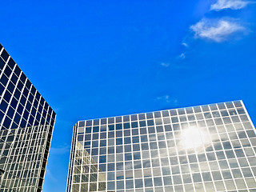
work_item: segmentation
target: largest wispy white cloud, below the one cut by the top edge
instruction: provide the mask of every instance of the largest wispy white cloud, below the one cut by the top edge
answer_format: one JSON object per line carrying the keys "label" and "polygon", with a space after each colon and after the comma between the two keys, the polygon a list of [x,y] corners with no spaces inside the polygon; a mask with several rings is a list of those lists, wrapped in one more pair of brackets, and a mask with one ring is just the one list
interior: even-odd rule
{"label": "largest wispy white cloud, below the one cut by the top edge", "polygon": [[223,18],[218,20],[203,18],[194,26],[190,26],[190,29],[194,31],[196,38],[207,38],[214,42],[225,41],[231,34],[246,30],[238,22]]}

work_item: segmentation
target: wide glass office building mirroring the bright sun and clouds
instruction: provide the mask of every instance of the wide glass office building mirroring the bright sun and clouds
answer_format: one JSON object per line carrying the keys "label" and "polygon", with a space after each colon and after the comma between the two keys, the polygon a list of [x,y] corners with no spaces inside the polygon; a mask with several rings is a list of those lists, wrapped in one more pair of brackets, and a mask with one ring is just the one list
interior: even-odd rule
{"label": "wide glass office building mirroring the bright sun and clouds", "polygon": [[256,191],[242,101],[79,121],[67,192]]}

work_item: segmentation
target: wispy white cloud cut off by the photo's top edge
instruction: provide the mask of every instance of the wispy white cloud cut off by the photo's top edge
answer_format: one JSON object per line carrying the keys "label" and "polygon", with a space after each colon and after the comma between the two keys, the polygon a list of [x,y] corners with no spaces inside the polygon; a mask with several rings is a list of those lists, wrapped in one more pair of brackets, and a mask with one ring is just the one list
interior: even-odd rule
{"label": "wispy white cloud cut off by the photo's top edge", "polygon": [[242,0],[218,0],[216,3],[210,6],[210,10],[240,10],[243,7],[247,6],[251,2],[242,1]]}

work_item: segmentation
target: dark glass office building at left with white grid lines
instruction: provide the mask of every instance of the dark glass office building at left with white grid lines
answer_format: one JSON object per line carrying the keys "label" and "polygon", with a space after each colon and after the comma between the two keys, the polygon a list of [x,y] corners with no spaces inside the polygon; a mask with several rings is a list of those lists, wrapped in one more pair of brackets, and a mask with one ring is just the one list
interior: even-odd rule
{"label": "dark glass office building at left with white grid lines", "polygon": [[0,191],[40,192],[56,114],[0,44]]}

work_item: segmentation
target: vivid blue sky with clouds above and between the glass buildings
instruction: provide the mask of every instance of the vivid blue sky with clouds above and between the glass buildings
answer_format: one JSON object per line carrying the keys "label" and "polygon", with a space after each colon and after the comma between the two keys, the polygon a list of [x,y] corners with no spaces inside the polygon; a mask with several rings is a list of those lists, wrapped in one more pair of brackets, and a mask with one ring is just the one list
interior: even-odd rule
{"label": "vivid blue sky with clouds above and between the glass buildings", "polygon": [[242,99],[256,123],[256,3],[3,1],[0,42],[57,113],[43,192],[74,123]]}

